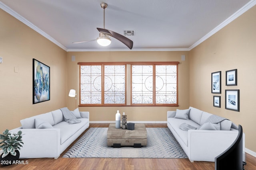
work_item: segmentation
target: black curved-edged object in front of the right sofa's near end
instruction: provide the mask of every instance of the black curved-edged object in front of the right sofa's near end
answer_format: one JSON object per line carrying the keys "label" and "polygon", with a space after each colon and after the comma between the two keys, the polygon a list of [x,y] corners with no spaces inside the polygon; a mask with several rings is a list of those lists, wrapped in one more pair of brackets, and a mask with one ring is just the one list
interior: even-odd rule
{"label": "black curved-edged object in front of the right sofa's near end", "polygon": [[215,157],[215,170],[243,170],[243,129],[239,125],[238,136],[228,149]]}

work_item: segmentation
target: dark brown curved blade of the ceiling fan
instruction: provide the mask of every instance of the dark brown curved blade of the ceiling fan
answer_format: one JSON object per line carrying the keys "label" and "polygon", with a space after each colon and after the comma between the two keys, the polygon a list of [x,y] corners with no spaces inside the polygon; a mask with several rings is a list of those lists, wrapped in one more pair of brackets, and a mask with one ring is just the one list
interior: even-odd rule
{"label": "dark brown curved blade of the ceiling fan", "polygon": [[132,49],[133,41],[128,39],[127,37],[124,37],[124,35],[121,35],[119,33],[116,33],[114,31],[104,29],[104,28],[97,28],[98,31],[106,34],[110,34],[111,37],[114,37],[115,39],[118,39],[122,43],[124,43],[129,49]]}

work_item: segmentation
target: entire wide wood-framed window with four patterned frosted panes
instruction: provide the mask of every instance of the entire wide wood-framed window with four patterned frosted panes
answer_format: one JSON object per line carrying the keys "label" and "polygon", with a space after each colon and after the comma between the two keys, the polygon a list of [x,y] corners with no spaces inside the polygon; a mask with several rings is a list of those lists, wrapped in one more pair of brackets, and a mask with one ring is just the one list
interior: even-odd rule
{"label": "entire wide wood-framed window with four patterned frosted panes", "polygon": [[80,106],[178,106],[179,62],[78,64]]}

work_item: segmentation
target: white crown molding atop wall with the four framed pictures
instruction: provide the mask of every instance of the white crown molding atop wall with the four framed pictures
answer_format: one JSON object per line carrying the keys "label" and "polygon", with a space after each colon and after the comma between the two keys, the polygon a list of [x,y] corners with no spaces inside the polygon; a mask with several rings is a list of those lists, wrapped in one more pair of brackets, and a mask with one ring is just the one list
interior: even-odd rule
{"label": "white crown molding atop wall with the four framed pictures", "polygon": [[193,48],[195,48],[196,46],[198,46],[200,43],[204,42],[206,39],[208,39],[210,36],[214,35],[216,32],[220,31],[220,29],[222,29],[223,27],[225,27],[226,25],[228,25],[230,22],[234,21],[236,18],[238,18],[239,16],[241,16],[242,14],[244,14],[244,12],[248,11],[250,8],[252,8],[254,5],[256,4],[256,0],[251,0],[250,2],[248,2],[247,4],[245,4],[242,8],[240,8],[237,12],[235,12],[232,16],[230,16],[229,18],[227,18],[225,21],[223,21],[222,23],[220,23],[220,25],[218,25],[217,27],[215,27],[214,29],[212,29],[209,33],[207,33],[206,35],[204,35],[204,37],[202,37],[201,39],[199,39],[196,43],[194,43],[193,45],[191,45],[188,49],[189,51],[192,50]]}

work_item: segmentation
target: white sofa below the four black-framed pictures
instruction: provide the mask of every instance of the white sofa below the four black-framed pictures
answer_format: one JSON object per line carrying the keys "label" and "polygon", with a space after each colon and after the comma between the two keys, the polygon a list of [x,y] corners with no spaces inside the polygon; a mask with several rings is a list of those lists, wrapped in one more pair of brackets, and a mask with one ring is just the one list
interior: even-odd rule
{"label": "white sofa below the four black-framed pictures", "polygon": [[[191,162],[214,162],[215,157],[228,149],[238,135],[238,130],[234,129],[236,125],[227,119],[218,124],[207,123],[206,120],[210,115],[212,114],[194,107],[189,107],[186,110],[167,111],[168,128]],[[183,123],[197,129],[182,130]],[[210,130],[211,128],[213,129]],[[220,130],[214,130],[214,128],[220,128]],[[245,160],[244,143],[245,134],[243,133],[243,161]]]}

